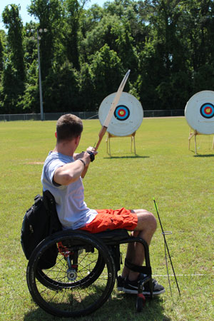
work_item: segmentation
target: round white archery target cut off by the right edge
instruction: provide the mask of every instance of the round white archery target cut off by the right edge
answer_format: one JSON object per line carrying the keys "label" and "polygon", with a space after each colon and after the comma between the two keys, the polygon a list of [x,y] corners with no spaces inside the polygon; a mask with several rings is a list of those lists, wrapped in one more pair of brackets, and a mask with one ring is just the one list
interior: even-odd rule
{"label": "round white archery target cut off by the right edge", "polygon": [[214,91],[195,93],[185,106],[185,118],[198,133],[214,133]]}

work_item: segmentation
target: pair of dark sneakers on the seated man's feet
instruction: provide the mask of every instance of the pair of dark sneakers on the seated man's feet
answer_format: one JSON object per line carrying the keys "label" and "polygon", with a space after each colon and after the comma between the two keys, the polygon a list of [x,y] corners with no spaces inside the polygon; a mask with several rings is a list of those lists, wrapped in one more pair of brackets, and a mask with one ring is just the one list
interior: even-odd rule
{"label": "pair of dark sneakers on the seated man's feet", "polygon": [[[142,275],[138,277],[138,280],[134,280],[134,281],[125,280],[124,286],[123,286],[123,292],[138,294],[138,282],[141,279],[142,279]],[[155,279],[153,279],[153,295],[161,295],[164,292],[165,292],[165,288],[162,285],[159,285],[158,282]],[[146,284],[143,285],[143,295],[150,295],[149,282],[146,282]]]}

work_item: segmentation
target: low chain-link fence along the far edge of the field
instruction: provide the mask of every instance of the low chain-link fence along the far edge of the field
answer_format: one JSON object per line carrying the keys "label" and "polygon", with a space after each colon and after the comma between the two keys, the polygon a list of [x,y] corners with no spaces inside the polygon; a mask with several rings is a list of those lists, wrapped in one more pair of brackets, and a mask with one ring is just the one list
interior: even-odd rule
{"label": "low chain-link fence along the far edge of the field", "polygon": [[[81,119],[98,119],[97,111],[68,111],[63,113],[44,113],[45,121],[57,121],[57,119],[65,113],[73,113]],[[143,117],[176,117],[184,116],[183,109],[172,109],[167,111],[143,111]],[[17,114],[1,114],[0,121],[40,121],[40,113],[17,113]]]}

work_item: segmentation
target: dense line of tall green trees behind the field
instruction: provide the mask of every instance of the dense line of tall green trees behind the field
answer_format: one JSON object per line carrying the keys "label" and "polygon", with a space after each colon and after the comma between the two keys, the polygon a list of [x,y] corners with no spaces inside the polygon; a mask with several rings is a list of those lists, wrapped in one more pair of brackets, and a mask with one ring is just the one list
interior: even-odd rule
{"label": "dense line of tall green trees behind the field", "polygon": [[0,113],[39,113],[37,40],[44,112],[97,111],[128,69],[125,90],[144,110],[183,109],[194,93],[213,90],[213,1],[114,0],[89,9],[86,1],[31,0],[38,23],[25,26],[20,6],[5,7]]}

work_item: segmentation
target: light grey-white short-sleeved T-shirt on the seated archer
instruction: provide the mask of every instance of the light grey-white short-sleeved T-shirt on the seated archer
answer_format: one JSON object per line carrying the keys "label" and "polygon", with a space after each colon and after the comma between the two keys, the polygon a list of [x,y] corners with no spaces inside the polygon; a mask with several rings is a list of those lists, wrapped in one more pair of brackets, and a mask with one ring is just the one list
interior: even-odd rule
{"label": "light grey-white short-sleeved T-shirt on the seated archer", "polygon": [[72,156],[50,152],[44,163],[41,174],[41,183],[44,190],[49,190],[56,200],[56,211],[63,229],[75,230],[90,223],[97,215],[84,202],[84,188],[82,178],[69,185],[54,183],[54,173],[58,167],[73,162]]}

